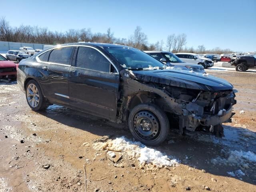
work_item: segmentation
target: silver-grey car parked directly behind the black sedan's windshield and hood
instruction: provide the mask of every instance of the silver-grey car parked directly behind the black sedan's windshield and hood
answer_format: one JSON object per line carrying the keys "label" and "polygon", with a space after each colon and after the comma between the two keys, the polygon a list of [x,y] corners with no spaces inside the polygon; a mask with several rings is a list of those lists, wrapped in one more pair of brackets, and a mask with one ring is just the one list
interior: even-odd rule
{"label": "silver-grey car parked directly behind the black sedan's windshield and hood", "polygon": [[180,60],[180,58],[178,58],[172,52],[168,52],[168,51],[144,51],[144,52],[156,58],[157,60],[163,62],[167,66],[172,66],[180,70],[188,70],[188,71],[194,71],[199,73],[205,73],[203,66],[198,64],[186,63]]}

